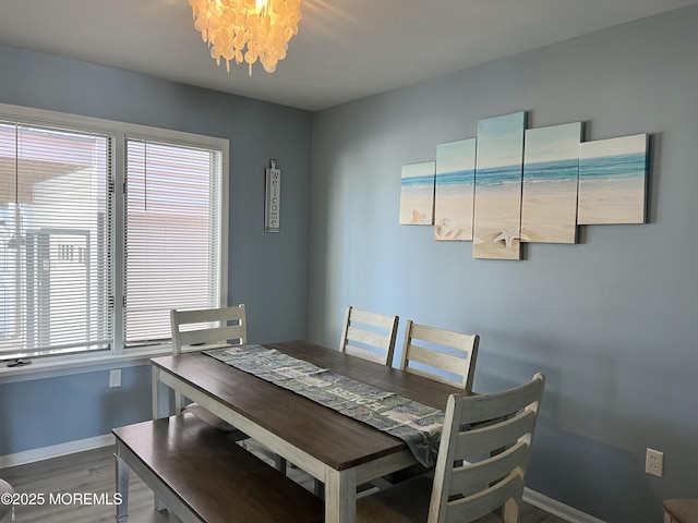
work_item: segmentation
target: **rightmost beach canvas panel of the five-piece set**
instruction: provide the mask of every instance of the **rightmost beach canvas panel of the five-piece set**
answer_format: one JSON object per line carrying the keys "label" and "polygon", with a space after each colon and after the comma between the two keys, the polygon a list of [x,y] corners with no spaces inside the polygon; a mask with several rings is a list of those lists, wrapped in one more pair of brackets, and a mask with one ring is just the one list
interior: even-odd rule
{"label": "rightmost beach canvas panel of the five-piece set", "polygon": [[577,223],[645,223],[648,136],[583,142]]}

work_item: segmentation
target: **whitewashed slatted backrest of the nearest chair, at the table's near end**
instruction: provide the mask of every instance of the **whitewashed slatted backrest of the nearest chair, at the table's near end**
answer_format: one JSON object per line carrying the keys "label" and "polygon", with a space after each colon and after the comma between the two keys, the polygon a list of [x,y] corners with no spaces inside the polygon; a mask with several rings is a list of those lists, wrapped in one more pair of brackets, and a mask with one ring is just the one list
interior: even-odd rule
{"label": "whitewashed slatted backrest of the nearest chair, at the table's near end", "polygon": [[449,398],[430,522],[468,523],[500,508],[504,523],[519,521],[544,385],[539,373],[503,392]]}

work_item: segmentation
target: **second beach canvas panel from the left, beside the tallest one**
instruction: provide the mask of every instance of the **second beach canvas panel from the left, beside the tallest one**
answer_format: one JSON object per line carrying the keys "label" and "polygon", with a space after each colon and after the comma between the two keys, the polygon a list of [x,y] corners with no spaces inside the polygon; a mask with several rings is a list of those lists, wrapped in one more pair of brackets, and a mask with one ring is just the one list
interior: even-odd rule
{"label": "second beach canvas panel from the left, beside the tallest one", "polygon": [[472,240],[476,138],[436,146],[434,240]]}

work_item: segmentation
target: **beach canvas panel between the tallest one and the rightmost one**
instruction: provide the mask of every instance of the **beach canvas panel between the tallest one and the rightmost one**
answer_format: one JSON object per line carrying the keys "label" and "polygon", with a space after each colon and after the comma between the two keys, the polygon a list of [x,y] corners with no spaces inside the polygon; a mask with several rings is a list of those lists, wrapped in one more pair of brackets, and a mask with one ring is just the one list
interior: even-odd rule
{"label": "beach canvas panel between the tallest one and the rightmost one", "polygon": [[524,149],[521,239],[577,242],[581,122],[529,129]]}

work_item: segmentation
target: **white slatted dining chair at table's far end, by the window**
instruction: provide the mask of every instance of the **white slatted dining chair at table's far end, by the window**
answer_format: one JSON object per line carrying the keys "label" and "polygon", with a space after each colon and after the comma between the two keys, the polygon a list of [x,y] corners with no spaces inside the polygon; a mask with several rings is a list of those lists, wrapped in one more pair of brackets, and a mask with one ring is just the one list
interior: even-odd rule
{"label": "white slatted dining chair at table's far end, by the window", "polygon": [[[244,345],[248,342],[244,304],[232,307],[202,308],[195,311],[170,311],[172,328],[172,354],[215,349],[228,345]],[[184,405],[185,398],[174,394],[174,411],[191,412],[204,422],[227,433],[233,440],[248,439],[248,436],[229,423],[197,403]]]}

